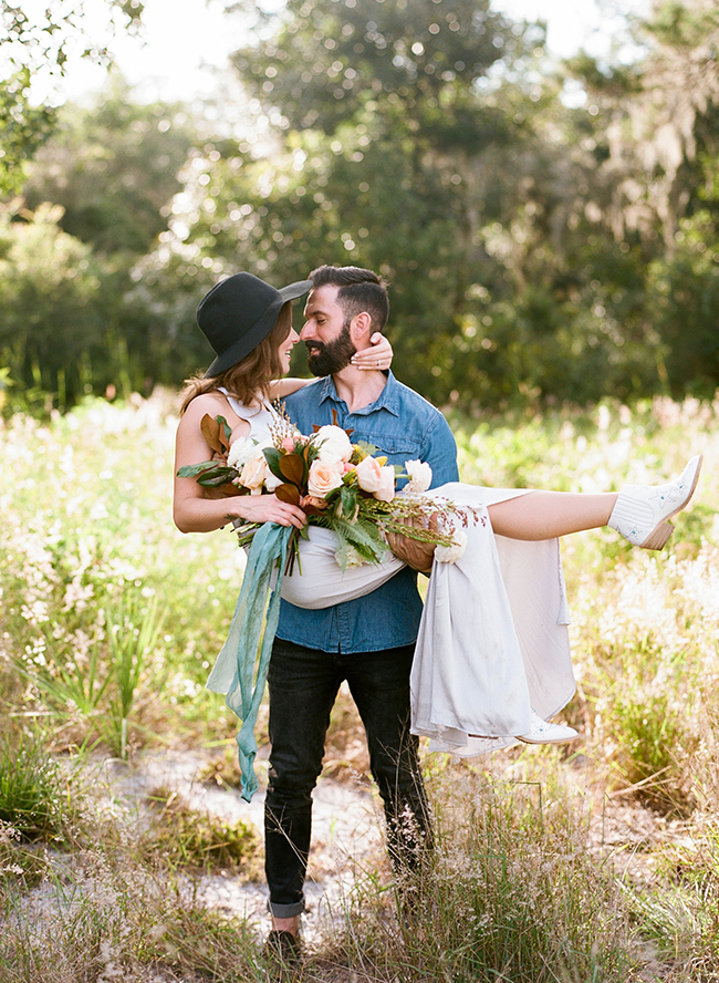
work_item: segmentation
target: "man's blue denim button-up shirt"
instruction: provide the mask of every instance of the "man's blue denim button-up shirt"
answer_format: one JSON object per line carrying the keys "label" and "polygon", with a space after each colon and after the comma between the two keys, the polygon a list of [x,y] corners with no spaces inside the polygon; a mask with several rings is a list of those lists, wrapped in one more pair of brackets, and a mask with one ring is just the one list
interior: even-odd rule
{"label": "man's blue denim button-up shirt", "polygon": [[[303,434],[311,434],[313,424],[334,423],[334,410],[337,425],[353,431],[352,441],[373,444],[387,456],[387,464],[426,461],[431,466],[433,487],[458,480],[457,445],[447,421],[392,373],[379,399],[354,413],[337,396],[331,376],[288,396],[285,406]],[[398,482],[398,487],[402,484]],[[371,594],[332,608],[310,611],[283,600],[277,634],[323,652],[378,652],[411,644],[420,617],[417,575],[405,567]]]}

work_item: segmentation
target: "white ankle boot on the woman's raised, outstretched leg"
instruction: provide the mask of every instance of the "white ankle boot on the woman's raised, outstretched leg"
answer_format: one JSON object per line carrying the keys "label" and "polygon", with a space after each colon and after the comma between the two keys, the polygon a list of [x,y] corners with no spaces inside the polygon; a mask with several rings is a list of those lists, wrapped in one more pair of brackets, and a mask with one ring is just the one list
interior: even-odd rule
{"label": "white ankle boot on the woman's raised, outstretched leg", "polygon": [[607,525],[632,546],[664,549],[674,532],[674,526],[667,520],[687,505],[697,487],[700,470],[701,455],[697,455],[678,478],[666,485],[625,485]]}

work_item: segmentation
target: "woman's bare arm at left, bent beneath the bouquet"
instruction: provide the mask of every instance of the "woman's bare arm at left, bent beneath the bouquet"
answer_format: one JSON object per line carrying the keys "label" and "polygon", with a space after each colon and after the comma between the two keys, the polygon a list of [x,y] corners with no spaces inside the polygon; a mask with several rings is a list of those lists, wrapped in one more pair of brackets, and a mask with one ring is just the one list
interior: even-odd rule
{"label": "woman's bare arm at left, bent beneath the bouquet", "polygon": [[306,522],[302,509],[280,501],[274,495],[235,495],[211,497],[195,478],[178,478],[185,465],[212,459],[212,449],[200,431],[200,421],[216,408],[210,394],[196,396],[177,427],[175,443],[175,485],[173,518],[180,532],[211,532],[235,518],[251,522],[278,522],[301,529]]}

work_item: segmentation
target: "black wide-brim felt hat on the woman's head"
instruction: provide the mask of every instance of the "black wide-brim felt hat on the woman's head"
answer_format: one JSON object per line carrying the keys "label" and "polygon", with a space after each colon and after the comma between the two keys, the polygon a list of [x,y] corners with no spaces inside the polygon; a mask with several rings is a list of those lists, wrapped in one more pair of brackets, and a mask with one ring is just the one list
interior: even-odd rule
{"label": "black wide-brim felt hat on the woman's head", "polygon": [[212,287],[197,308],[197,323],[217,353],[205,377],[220,375],[249,355],[272,331],[282,306],[310,290],[312,280],[275,290],[252,273],[236,273]]}

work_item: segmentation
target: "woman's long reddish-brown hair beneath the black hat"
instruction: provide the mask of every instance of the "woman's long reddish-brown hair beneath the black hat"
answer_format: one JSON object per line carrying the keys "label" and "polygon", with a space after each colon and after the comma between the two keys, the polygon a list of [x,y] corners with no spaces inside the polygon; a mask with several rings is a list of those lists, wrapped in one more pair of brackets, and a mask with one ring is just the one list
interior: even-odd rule
{"label": "woman's long reddish-brown hair beneath the black hat", "polygon": [[291,330],[292,303],[288,302],[280,309],[274,328],[257,348],[252,349],[249,355],[246,355],[241,361],[236,362],[235,365],[226,369],[219,375],[208,379],[205,375],[198,374],[185,380],[185,386],[180,392],[183,397],[180,416],[195,396],[199,396],[200,393],[215,392],[220,386],[246,406],[267,400],[269,397],[270,382],[282,375],[282,363],[280,362],[278,350]]}

